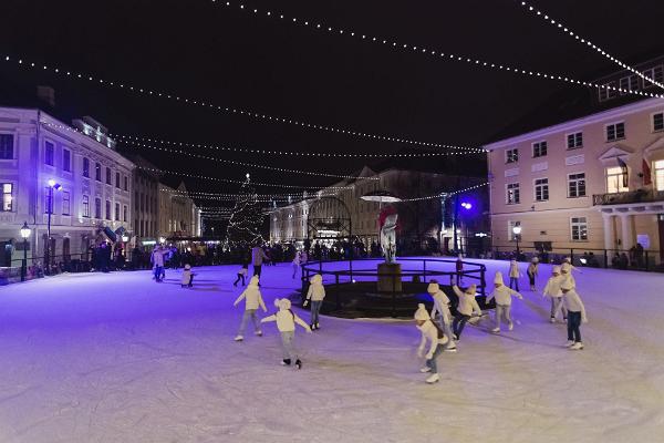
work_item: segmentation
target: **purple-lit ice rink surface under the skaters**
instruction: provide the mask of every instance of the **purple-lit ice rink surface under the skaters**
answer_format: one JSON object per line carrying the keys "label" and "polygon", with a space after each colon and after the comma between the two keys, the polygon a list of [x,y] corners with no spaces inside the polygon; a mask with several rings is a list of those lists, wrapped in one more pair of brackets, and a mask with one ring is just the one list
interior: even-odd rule
{"label": "purple-lit ice rink surface under the skaters", "polygon": [[[660,274],[577,275],[578,352],[522,279],[515,330],[467,327],[427,385],[412,322],[323,318],[297,332],[301,371],[279,365],[274,323],[234,342],[237,268],[198,268],[194,289],[172,270],[160,285],[136,271],[0,288],[0,442],[664,441]],[[263,268],[269,309],[297,288],[290,272]]]}

